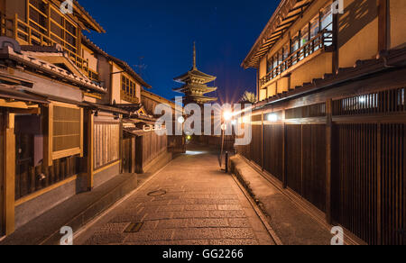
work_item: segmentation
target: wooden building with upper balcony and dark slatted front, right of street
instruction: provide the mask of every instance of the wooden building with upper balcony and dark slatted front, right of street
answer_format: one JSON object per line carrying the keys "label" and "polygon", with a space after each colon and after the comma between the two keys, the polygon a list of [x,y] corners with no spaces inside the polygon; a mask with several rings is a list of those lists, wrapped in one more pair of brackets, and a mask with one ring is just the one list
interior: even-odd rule
{"label": "wooden building with upper balcony and dark slatted front, right of street", "polygon": [[238,147],[318,219],[405,244],[406,2],[282,0],[243,62],[253,141]]}

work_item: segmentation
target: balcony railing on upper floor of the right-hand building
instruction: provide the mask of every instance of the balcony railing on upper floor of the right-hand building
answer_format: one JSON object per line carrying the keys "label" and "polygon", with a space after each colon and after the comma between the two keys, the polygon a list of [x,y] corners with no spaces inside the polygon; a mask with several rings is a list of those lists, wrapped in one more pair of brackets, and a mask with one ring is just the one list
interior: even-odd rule
{"label": "balcony railing on upper floor of the right-hand building", "polygon": [[301,60],[307,58],[309,55],[313,54],[317,50],[322,50],[325,47],[331,46],[333,44],[333,32],[322,31],[319,32],[317,36],[310,39],[306,44],[301,46],[299,50],[291,53],[291,55],[281,61],[281,63],[272,68],[272,70],[263,78],[260,79],[260,86],[264,86],[270,82],[273,78],[281,75],[282,72],[298,64]]}

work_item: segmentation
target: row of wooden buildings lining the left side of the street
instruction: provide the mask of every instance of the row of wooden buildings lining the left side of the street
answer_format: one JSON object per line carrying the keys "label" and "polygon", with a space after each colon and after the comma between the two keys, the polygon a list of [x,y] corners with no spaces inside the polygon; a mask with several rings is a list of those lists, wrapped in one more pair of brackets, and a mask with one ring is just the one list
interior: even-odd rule
{"label": "row of wooden buildings lining the left side of the street", "polygon": [[126,146],[124,125],[151,135],[151,86],[82,35],[104,30],[77,1],[73,14],[62,2],[0,1],[0,236],[167,149],[166,136]]}

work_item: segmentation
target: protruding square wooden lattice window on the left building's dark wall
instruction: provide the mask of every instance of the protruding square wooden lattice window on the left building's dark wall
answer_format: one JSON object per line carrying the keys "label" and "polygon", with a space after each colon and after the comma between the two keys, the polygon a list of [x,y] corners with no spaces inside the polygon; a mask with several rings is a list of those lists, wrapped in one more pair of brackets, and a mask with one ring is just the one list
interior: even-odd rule
{"label": "protruding square wooden lattice window on the left building's dark wall", "polygon": [[51,103],[49,110],[49,162],[83,156],[83,109],[73,104]]}

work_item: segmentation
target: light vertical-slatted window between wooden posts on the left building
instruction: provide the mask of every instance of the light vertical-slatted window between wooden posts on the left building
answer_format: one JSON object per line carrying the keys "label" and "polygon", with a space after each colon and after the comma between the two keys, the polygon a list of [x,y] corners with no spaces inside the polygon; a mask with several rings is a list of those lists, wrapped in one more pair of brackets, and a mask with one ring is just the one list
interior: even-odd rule
{"label": "light vertical-slatted window between wooden posts on the left building", "polygon": [[118,123],[95,123],[94,168],[101,168],[120,159],[120,126]]}

